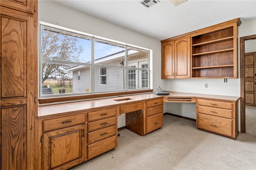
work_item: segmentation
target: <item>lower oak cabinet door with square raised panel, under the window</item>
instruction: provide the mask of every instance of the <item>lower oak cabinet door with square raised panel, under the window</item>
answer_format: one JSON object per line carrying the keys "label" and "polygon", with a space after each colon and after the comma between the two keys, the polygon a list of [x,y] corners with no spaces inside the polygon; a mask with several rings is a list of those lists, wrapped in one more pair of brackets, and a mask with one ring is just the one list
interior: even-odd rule
{"label": "lower oak cabinet door with square raised panel, under the window", "polygon": [[42,169],[67,169],[86,160],[86,125],[43,133]]}

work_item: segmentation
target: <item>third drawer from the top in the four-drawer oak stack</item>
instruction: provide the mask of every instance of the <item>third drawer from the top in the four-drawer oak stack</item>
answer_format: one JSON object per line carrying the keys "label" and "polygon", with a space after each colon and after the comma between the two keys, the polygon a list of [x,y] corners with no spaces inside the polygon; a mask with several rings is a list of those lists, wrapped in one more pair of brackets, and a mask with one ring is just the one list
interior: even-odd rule
{"label": "third drawer from the top in the four-drawer oak stack", "polygon": [[94,142],[98,142],[102,139],[106,139],[108,137],[116,135],[116,125],[106,127],[97,131],[92,131],[87,133],[87,144],[92,144]]}

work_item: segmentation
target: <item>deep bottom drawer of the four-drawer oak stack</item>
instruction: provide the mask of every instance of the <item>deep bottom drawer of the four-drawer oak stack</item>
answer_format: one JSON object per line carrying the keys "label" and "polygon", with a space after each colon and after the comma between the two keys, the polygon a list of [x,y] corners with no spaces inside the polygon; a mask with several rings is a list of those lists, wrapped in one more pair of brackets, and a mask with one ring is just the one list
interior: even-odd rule
{"label": "deep bottom drawer of the four-drawer oak stack", "polygon": [[116,135],[87,146],[87,158],[94,158],[116,147]]}

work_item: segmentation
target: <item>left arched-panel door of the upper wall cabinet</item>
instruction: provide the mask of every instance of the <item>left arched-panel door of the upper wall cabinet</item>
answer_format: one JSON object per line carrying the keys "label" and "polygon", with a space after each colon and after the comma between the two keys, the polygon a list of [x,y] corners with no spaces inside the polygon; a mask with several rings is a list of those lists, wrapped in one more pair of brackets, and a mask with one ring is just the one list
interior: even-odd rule
{"label": "left arched-panel door of the upper wall cabinet", "polygon": [[174,41],[162,44],[162,78],[174,78]]}

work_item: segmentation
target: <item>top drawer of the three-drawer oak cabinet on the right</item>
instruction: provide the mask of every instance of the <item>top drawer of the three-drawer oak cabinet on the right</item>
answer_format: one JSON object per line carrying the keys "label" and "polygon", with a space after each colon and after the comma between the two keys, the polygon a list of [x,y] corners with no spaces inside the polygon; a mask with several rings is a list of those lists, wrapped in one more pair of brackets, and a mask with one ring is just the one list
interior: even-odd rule
{"label": "top drawer of the three-drawer oak cabinet on the right", "polygon": [[233,105],[231,102],[198,99],[197,104],[202,106],[217,107],[222,109],[230,109],[230,110],[233,109],[232,107]]}

